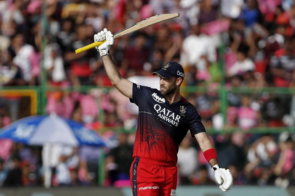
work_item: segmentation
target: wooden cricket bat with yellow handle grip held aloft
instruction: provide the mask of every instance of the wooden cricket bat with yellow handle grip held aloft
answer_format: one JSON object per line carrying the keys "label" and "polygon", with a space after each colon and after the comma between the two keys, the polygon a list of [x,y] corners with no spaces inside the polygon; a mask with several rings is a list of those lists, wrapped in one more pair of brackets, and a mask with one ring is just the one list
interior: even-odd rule
{"label": "wooden cricket bat with yellow handle grip held aloft", "polygon": [[[167,21],[167,20],[170,20],[172,18],[177,18],[177,17],[179,17],[179,13],[158,14],[158,15],[149,17],[147,19],[144,19],[143,21],[140,21],[128,28],[125,28],[124,30],[122,30],[120,32],[115,33],[114,38],[118,38],[118,37],[127,35],[128,33],[132,33],[132,32],[138,31],[140,29],[146,28],[148,26],[157,24],[159,22]],[[96,46],[100,46],[104,42],[105,42],[105,40],[102,42],[91,43],[87,46],[84,46],[84,47],[81,47],[81,48],[75,50],[75,52],[76,52],[76,54],[84,52],[84,51],[94,48]]]}

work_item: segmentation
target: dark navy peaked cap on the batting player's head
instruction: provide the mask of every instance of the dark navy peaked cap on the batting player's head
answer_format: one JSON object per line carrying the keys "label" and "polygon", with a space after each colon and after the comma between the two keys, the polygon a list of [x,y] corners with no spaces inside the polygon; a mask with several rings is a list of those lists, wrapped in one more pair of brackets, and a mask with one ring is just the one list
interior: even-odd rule
{"label": "dark navy peaked cap on the batting player's head", "polygon": [[167,62],[161,70],[156,71],[153,75],[158,74],[163,78],[169,77],[181,77],[182,80],[184,78],[184,70],[183,67],[177,62]]}

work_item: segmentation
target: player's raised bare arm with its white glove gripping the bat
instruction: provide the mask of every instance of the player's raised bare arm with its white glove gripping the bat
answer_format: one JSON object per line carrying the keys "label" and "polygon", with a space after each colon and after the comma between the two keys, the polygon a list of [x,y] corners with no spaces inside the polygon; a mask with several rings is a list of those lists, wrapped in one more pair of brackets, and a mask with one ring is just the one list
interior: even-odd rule
{"label": "player's raised bare arm with its white glove gripping the bat", "polygon": [[133,83],[129,80],[124,79],[116,66],[112,61],[112,57],[109,53],[109,49],[111,45],[114,43],[113,34],[104,28],[103,31],[94,35],[94,41],[103,41],[106,40],[99,47],[96,47],[97,51],[99,51],[100,56],[102,58],[102,62],[104,63],[104,69],[110,79],[112,85],[116,87],[123,95],[132,98],[132,87]]}

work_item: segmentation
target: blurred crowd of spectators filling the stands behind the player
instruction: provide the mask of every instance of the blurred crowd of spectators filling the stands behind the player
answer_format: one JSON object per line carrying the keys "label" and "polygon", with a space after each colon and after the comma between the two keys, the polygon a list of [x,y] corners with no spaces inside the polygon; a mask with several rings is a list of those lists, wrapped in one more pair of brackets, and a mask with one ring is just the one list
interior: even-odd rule
{"label": "blurred crowd of spectators filling the stands behind the player", "polygon": [[[293,135],[247,133],[257,126],[294,126],[294,96],[228,93],[223,124],[222,103],[215,92],[224,77],[226,88],[295,87],[292,0],[46,0],[45,5],[41,0],[2,0],[0,85],[41,85],[43,65],[48,85],[56,89],[110,87],[98,52],[76,54],[75,49],[92,43],[93,35],[103,28],[116,33],[155,14],[177,12],[180,17],[174,20],[115,39],[110,52],[122,76],[151,76],[165,62],[179,62],[185,69],[185,85],[209,89],[186,95],[204,126],[243,130],[212,135],[220,165],[230,168],[234,184],[294,184]],[[130,185],[134,132],[116,134],[108,129],[136,127],[137,111],[128,98],[114,89],[55,90],[46,96],[47,114],[74,119],[97,131],[104,127],[104,185]],[[22,104],[19,97],[0,97],[0,128],[24,117]],[[8,139],[1,139],[0,146],[0,187],[40,186],[46,172],[51,173],[51,186],[97,184],[96,147],[32,147]],[[51,164],[44,162],[47,148],[56,149]],[[214,184],[210,165],[191,136],[179,146],[178,165],[180,184]]]}

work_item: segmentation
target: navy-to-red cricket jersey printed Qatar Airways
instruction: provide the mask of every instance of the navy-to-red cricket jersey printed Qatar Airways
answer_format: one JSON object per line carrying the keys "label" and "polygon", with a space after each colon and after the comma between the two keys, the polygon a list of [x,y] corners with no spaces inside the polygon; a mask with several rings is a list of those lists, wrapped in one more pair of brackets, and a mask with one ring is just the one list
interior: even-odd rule
{"label": "navy-to-red cricket jersey printed Qatar Airways", "polygon": [[132,103],[139,107],[133,158],[177,163],[178,146],[190,130],[205,132],[195,106],[182,98],[170,103],[157,89],[133,83]]}

